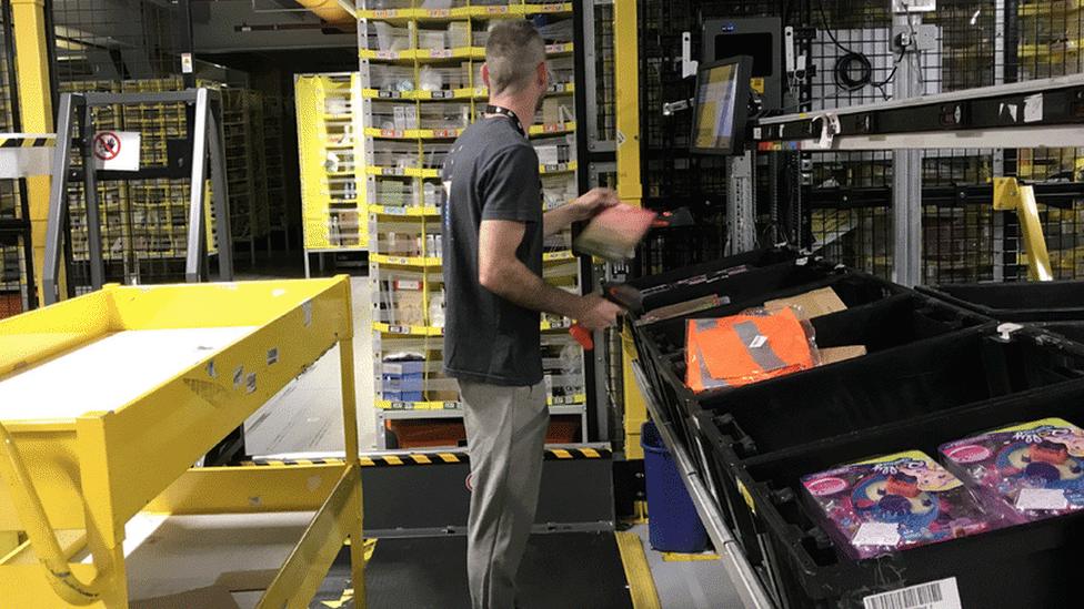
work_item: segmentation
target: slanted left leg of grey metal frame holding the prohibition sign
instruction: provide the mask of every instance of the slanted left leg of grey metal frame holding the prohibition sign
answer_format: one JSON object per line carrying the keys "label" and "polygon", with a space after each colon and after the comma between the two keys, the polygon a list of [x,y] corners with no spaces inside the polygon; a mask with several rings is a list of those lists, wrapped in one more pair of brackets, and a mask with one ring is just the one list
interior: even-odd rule
{"label": "slanted left leg of grey metal frame holding the prohibition sign", "polygon": [[62,231],[68,215],[68,169],[71,165],[71,123],[76,118],[74,95],[60,97],[58,113],[57,150],[52,160],[53,180],[49,193],[49,214],[46,224],[46,256],[41,273],[42,298],[47,305],[59,298],[57,281],[60,275],[60,252],[63,244]]}

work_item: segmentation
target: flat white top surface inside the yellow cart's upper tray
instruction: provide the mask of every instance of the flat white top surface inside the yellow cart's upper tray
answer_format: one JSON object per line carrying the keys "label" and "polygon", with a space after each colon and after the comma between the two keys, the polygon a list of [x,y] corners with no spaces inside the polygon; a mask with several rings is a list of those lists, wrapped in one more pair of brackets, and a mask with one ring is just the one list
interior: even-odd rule
{"label": "flat white top surface inside the yellow cart's upper tray", "polygon": [[116,410],[255,329],[139,329],[107,335],[0,379],[0,420],[73,419]]}

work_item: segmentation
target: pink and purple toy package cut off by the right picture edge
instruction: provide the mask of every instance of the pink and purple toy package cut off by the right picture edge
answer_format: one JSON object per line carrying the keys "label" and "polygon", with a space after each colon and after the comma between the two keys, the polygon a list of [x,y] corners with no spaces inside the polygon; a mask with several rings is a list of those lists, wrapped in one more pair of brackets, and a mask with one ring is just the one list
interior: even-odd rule
{"label": "pink and purple toy package cut off by the right picture edge", "polygon": [[1084,508],[1084,430],[1045,418],[951,441],[946,467],[1014,522]]}

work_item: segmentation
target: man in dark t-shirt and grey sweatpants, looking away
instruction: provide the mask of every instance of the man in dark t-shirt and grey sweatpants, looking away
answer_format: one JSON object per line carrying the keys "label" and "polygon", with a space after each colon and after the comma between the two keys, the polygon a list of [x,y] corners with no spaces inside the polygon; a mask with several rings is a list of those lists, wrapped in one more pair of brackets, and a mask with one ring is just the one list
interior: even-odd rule
{"label": "man in dark t-shirt and grey sweatpants, looking away", "polygon": [[620,308],[542,280],[544,235],[616,203],[594,190],[542,213],[539,159],[526,132],[549,84],[545,45],[521,20],[490,30],[484,116],[444,162],[444,369],[463,397],[473,494],[468,577],[475,608],[514,605],[515,574],[534,521],[549,423],[539,312],[589,329]]}

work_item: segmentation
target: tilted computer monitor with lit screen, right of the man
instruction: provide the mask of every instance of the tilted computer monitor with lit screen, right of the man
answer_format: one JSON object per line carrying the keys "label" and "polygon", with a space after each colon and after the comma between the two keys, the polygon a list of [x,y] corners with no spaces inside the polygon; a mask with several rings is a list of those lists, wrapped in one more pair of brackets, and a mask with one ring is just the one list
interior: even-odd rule
{"label": "tilted computer monitor with lit screen, right of the man", "polygon": [[741,55],[700,69],[693,108],[693,152],[741,154],[744,151],[752,65],[752,58]]}

